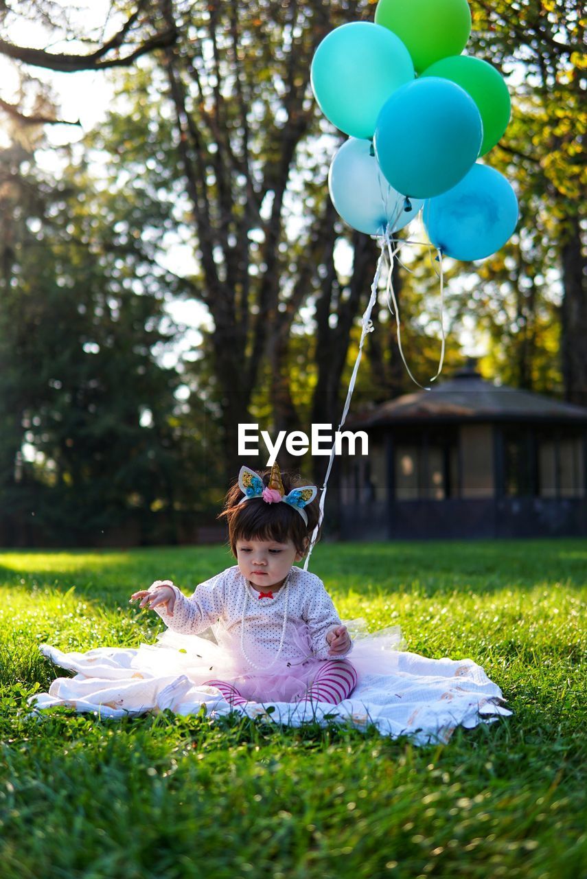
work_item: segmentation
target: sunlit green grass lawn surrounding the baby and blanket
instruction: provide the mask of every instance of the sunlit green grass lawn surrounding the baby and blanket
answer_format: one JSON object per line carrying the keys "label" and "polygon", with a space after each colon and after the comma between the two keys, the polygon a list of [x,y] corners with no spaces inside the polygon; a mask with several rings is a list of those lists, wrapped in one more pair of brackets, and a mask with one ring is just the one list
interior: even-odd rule
{"label": "sunlit green grass lawn surrounding the baby and blanket", "polygon": [[128,604],[190,594],[221,547],[0,552],[4,879],[587,876],[587,542],[322,544],[339,613],[397,624],[408,649],[470,657],[513,716],[415,746],[347,728],[170,712],[124,721],[25,700],[40,656],[154,641]]}

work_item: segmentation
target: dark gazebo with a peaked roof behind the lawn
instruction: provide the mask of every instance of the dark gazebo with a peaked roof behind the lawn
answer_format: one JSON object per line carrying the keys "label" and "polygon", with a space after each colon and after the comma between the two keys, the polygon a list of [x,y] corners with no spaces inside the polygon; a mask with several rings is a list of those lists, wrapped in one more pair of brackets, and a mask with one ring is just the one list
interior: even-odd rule
{"label": "dark gazebo with a peaked roof behind the lawn", "polygon": [[587,534],[587,409],[485,381],[475,361],[353,418],[344,539]]}

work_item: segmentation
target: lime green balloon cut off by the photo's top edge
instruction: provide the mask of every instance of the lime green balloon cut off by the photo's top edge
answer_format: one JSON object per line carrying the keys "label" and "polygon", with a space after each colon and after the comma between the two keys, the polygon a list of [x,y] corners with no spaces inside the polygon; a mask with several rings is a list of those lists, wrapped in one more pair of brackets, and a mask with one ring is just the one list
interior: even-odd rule
{"label": "lime green balloon cut off by the photo's top edge", "polygon": [[379,0],[375,23],[397,34],[420,73],[462,52],[471,33],[471,12],[467,0]]}

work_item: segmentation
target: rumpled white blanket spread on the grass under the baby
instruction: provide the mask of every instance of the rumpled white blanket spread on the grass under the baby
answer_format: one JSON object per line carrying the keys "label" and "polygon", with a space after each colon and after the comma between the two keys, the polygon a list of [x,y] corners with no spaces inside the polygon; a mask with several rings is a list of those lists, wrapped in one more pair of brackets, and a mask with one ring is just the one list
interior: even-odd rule
{"label": "rumpled white blanket spread on the grass under the baby", "polygon": [[165,708],[190,715],[206,706],[212,718],[236,711],[291,726],[351,723],[365,730],[373,724],[382,735],[409,735],[414,744],[427,745],[446,743],[457,726],[470,729],[511,715],[500,688],[472,659],[431,659],[407,650],[395,653],[392,673],[363,676],[351,698],[338,705],[247,702],[242,708],[231,708],[216,687],[195,685],[185,674],[148,671],[140,649],[98,647],[64,653],[41,644],[40,650],[54,665],[76,674],[55,679],[48,693],[31,698],[32,714],[37,716],[54,706],[112,718],[157,714]]}

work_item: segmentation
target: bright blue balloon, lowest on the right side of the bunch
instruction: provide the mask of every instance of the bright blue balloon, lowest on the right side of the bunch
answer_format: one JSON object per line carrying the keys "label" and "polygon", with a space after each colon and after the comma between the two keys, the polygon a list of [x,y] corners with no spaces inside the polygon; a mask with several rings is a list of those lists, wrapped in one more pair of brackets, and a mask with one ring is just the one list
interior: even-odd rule
{"label": "bright blue balloon, lowest on the right side of the bunch", "polygon": [[504,246],[518,222],[518,200],[503,174],[475,164],[447,193],[424,203],[424,228],[453,259],[483,259]]}

